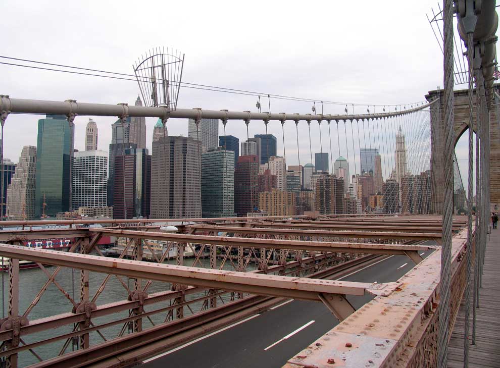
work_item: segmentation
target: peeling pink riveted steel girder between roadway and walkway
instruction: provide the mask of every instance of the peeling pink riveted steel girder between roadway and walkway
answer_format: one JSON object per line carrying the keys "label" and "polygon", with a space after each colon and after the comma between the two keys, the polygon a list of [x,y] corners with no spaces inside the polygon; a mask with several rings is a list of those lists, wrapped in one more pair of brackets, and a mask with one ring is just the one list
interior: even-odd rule
{"label": "peeling pink riveted steel girder between roadway and walkway", "polygon": [[[466,241],[454,238],[452,260],[455,304],[460,303],[463,288],[461,262]],[[440,250],[424,259],[420,265],[398,280],[394,292],[376,297],[351,314],[337,327],[290,358],[286,368],[331,367],[329,359],[338,366],[434,366],[437,344],[436,307],[440,272]],[[456,307],[452,313],[456,315]],[[455,316],[451,316],[451,328]],[[351,344],[347,347],[346,343]]]}

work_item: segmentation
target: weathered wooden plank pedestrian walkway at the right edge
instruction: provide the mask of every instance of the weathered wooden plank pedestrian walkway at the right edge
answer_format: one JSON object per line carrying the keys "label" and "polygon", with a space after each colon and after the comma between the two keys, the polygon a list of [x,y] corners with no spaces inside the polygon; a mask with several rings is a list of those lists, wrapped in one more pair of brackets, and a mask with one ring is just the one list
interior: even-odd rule
{"label": "weathered wooden plank pedestrian walkway at the right edge", "polygon": [[[492,230],[486,246],[483,284],[477,309],[476,345],[469,348],[472,368],[500,367],[500,230]],[[457,322],[448,344],[448,367],[464,366],[464,314],[462,302]],[[471,305],[472,339],[472,305]]]}

